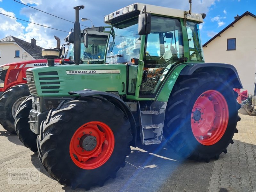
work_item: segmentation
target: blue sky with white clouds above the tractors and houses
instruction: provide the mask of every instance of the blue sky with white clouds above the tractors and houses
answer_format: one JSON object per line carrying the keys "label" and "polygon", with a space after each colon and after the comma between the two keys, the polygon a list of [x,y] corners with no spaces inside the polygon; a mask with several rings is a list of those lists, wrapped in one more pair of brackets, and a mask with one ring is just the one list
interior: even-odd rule
{"label": "blue sky with white clouds above the tractors and houses", "polygon": [[[135,1],[131,0],[17,1],[70,21],[75,20],[75,10],[73,7],[84,5],[85,8],[80,12],[80,18],[91,19],[95,26],[105,25],[103,22],[105,15],[135,3]],[[181,10],[189,9],[188,0],[140,0],[139,2]],[[234,16],[237,14],[242,15],[244,12],[249,11],[256,15],[255,7],[256,0],[193,0],[192,12],[204,12],[207,14],[204,24],[201,26],[202,43],[207,42],[212,36],[234,21]],[[13,0],[0,0],[0,13],[64,31],[70,31],[70,28],[73,28],[73,23],[71,22],[52,17]],[[91,27],[89,20],[81,21],[81,24]],[[0,15],[0,39],[12,35],[30,42],[30,39],[35,38],[37,45],[48,48],[56,46],[53,35],[59,36],[62,41],[67,34],[67,32],[28,24],[21,20]],[[62,43],[64,42],[62,41]]]}

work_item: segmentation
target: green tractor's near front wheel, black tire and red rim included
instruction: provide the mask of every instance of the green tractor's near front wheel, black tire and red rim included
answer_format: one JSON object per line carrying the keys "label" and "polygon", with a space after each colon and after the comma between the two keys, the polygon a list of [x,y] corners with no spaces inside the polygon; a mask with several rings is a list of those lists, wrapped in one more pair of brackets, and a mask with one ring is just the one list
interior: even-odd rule
{"label": "green tractor's near front wheel, black tire and red rim included", "polygon": [[66,101],[50,111],[37,137],[38,156],[49,174],[73,189],[103,186],[131,152],[130,122],[99,98]]}

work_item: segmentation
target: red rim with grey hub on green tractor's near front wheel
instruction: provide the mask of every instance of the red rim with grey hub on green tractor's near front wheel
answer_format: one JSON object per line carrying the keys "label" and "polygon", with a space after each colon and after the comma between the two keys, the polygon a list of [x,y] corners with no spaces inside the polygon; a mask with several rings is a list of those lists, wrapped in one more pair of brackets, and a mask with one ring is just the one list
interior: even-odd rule
{"label": "red rim with grey hub on green tractor's near front wheel", "polygon": [[69,154],[82,169],[95,169],[105,164],[111,156],[115,138],[108,125],[99,121],[83,124],[73,134]]}

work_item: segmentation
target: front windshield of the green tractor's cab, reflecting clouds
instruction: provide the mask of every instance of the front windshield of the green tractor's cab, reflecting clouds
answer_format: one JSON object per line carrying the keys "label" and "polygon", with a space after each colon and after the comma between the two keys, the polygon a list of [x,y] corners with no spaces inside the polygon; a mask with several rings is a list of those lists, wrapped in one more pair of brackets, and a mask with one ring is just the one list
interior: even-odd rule
{"label": "front windshield of the green tractor's cab, reflecting clouds", "polygon": [[110,34],[106,63],[126,63],[139,58],[138,19],[113,26]]}

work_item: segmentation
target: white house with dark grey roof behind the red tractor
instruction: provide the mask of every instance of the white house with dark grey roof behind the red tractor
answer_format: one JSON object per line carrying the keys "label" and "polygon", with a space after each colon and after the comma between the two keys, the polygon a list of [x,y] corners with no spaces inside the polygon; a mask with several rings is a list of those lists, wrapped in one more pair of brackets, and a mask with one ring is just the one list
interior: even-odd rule
{"label": "white house with dark grey roof behind the red tractor", "polygon": [[43,59],[42,47],[36,45],[36,39],[31,43],[14,36],[0,40],[0,65],[24,60]]}

